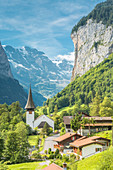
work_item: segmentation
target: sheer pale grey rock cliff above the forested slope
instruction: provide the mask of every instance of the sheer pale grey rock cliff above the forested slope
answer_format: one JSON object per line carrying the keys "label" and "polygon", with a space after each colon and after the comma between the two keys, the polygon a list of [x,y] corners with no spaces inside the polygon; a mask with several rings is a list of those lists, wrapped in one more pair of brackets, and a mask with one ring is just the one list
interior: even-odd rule
{"label": "sheer pale grey rock cliff above the forested slope", "polygon": [[113,53],[113,27],[96,23],[92,19],[71,34],[75,47],[75,62],[71,80],[83,75]]}

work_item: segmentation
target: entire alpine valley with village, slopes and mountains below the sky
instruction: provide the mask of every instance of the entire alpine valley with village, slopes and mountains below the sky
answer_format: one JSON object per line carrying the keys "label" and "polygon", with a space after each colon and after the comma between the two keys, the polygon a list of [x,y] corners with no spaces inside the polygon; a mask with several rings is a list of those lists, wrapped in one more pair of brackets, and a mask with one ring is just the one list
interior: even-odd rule
{"label": "entire alpine valley with village, slopes and mountains below the sky", "polygon": [[113,0],[71,39],[75,59],[64,67],[1,41],[0,170],[113,170]]}

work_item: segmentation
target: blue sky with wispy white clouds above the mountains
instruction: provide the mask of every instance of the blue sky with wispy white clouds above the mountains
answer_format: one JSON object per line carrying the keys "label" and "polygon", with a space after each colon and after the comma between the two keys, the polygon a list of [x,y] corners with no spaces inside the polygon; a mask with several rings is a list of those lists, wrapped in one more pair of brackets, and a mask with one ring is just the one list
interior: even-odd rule
{"label": "blue sky with wispy white clouds above the mountains", "polygon": [[0,41],[30,46],[50,58],[74,51],[73,26],[104,0],[0,0]]}

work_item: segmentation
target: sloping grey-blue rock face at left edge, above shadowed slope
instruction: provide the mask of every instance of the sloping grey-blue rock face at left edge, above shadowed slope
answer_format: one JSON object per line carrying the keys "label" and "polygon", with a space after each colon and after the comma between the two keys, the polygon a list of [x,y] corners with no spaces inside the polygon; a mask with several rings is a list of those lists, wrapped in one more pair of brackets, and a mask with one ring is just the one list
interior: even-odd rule
{"label": "sloping grey-blue rock face at left edge, above shadowed slope", "polygon": [[0,43],[0,75],[13,78],[7,55]]}

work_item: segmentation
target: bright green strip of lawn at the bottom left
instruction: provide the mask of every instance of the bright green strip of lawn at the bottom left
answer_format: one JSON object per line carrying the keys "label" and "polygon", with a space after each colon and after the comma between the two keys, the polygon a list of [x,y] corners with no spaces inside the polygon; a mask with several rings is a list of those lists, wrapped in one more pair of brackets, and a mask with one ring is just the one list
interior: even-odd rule
{"label": "bright green strip of lawn at the bottom left", "polygon": [[41,166],[40,163],[41,162],[13,164],[13,165],[9,165],[8,168],[10,170],[41,170],[47,166],[47,165]]}

